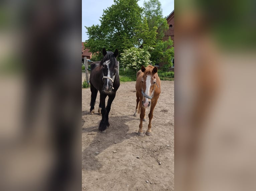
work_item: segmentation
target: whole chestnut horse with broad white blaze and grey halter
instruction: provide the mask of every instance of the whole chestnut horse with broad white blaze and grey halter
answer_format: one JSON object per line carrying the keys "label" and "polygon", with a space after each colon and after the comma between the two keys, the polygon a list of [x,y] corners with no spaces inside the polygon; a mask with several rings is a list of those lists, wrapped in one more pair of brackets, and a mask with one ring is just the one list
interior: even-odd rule
{"label": "whole chestnut horse with broad white blaze and grey halter", "polygon": [[136,109],[134,116],[140,113],[140,125],[139,136],[144,136],[142,130],[142,121],[145,121],[146,108],[150,106],[150,112],[148,114],[149,122],[146,135],[151,135],[151,121],[153,118],[153,111],[157,103],[157,99],[161,93],[161,82],[157,74],[157,67],[149,65],[148,67],[141,67],[141,70],[137,72],[136,80]]}

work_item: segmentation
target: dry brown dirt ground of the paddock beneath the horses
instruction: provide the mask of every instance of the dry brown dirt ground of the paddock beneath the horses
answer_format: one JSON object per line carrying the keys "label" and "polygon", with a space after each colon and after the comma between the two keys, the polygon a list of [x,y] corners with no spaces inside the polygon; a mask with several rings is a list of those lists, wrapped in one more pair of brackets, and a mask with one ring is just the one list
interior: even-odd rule
{"label": "dry brown dirt ground of the paddock beneath the horses", "polygon": [[[121,82],[107,133],[98,130],[99,93],[94,115],[89,114],[90,97],[90,89],[82,89],[82,190],[174,190],[174,81],[161,81],[152,136],[137,135],[135,82]],[[144,133],[148,113],[146,109]]]}

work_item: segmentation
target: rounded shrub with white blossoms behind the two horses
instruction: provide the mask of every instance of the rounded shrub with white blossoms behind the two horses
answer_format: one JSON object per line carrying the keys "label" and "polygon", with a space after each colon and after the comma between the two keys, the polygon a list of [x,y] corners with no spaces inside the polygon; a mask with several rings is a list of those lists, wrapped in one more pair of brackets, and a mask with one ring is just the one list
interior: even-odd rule
{"label": "rounded shrub with white blossoms behind the two horses", "polygon": [[120,64],[126,69],[140,70],[141,66],[147,67],[150,63],[150,54],[145,49],[130,48],[120,55]]}

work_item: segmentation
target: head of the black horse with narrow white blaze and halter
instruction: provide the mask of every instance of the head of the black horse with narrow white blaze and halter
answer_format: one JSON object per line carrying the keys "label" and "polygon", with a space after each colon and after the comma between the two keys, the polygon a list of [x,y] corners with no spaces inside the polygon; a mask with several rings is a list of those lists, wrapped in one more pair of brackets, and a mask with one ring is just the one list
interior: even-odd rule
{"label": "head of the black horse with narrow white blaze and halter", "polygon": [[103,67],[103,91],[106,93],[110,93],[113,88],[113,83],[115,80],[116,72],[118,69],[118,64],[116,57],[118,56],[118,50],[116,49],[115,52],[107,52],[104,48],[102,50],[103,53],[103,60],[101,61],[101,65]]}

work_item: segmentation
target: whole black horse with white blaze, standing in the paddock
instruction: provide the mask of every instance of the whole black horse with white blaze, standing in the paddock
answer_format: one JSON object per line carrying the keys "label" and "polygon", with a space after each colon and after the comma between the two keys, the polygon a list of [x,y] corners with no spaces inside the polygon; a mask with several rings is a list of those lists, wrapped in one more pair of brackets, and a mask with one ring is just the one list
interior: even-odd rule
{"label": "whole black horse with white blaze, standing in the paddock", "polygon": [[[116,91],[120,86],[118,75],[118,63],[116,57],[118,50],[115,52],[107,52],[104,48],[102,50],[104,58],[102,61],[97,61],[91,64],[90,84],[91,84],[91,108],[90,113],[94,114],[95,100],[100,91],[100,105],[98,112],[102,114],[99,130],[101,133],[106,132],[109,127],[108,116],[111,104],[116,96]],[[107,107],[105,107],[105,99],[108,98]]]}

